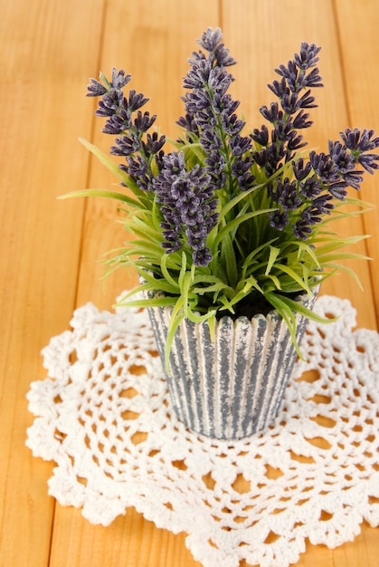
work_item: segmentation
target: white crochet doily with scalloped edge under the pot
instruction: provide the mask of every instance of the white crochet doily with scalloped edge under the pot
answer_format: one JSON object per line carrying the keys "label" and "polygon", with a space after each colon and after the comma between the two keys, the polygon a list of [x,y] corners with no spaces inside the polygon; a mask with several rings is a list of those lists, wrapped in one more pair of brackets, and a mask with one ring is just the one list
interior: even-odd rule
{"label": "white crochet doily with scalloped edge under the pot", "polygon": [[27,446],[53,460],[49,494],[108,525],[128,506],[187,533],[204,567],[287,567],[305,540],[336,547],[379,525],[379,335],[322,296],[280,415],[264,433],[215,441],[171,410],[147,313],[74,312],[43,350]]}

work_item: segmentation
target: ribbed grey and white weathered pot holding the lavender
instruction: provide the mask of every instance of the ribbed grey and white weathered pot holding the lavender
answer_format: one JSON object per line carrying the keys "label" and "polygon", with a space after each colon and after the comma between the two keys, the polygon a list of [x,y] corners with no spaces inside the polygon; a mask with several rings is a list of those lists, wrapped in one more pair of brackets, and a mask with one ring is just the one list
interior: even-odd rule
{"label": "ribbed grey and white weathered pot holding the lavender", "polygon": [[[298,297],[308,308],[315,299]],[[165,369],[171,310],[147,311]],[[295,316],[299,344],[308,320]],[[251,320],[223,317],[216,322],[213,341],[207,322],[183,320],[166,373],[175,412],[187,428],[207,437],[248,437],[267,428],[278,415],[296,358],[289,328],[275,310]]]}

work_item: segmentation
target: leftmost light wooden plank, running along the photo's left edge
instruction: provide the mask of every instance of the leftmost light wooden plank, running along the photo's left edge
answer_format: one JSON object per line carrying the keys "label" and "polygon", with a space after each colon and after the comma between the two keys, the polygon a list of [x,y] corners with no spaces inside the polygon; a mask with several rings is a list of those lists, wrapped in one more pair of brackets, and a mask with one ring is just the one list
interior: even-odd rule
{"label": "leftmost light wooden plank, running along the photo's left edge", "polygon": [[91,10],[72,0],[2,4],[0,563],[43,567],[52,464],[24,447],[33,421],[25,394],[43,378],[39,353],[74,306],[83,205],[55,197],[86,183],[88,159],[74,143],[76,131],[90,133],[79,88],[96,66],[102,0]]}

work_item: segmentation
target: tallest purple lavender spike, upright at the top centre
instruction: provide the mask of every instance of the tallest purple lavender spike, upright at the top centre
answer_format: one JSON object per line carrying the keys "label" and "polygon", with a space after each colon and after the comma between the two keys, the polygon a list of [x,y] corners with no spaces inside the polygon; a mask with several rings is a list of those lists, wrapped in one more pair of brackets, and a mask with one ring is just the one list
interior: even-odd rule
{"label": "tallest purple lavender spike, upright at the top centre", "polygon": [[226,67],[235,61],[221,41],[219,28],[208,28],[199,40],[208,53],[193,53],[189,60],[184,79],[186,113],[178,124],[185,128],[186,139],[191,141],[193,133],[198,138],[214,189],[232,196],[252,186],[253,157],[251,139],[241,136],[245,122],[235,114],[239,102],[227,93],[233,79]]}

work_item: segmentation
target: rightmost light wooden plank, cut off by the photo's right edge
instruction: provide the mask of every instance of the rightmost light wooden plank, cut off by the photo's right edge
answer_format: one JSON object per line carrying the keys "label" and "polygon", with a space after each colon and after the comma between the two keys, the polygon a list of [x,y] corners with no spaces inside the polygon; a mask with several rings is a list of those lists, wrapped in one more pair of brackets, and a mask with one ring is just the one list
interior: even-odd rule
{"label": "rightmost light wooden plank, cut off by the photo's right edge", "polygon": [[[336,18],[341,44],[341,68],[346,84],[346,103],[352,127],[374,128],[379,135],[379,11],[376,0],[336,0]],[[362,198],[374,204],[364,218],[368,254],[374,258],[370,271],[374,289],[376,321],[379,327],[379,191],[378,179],[368,176]],[[376,235],[376,237],[375,237]]]}

